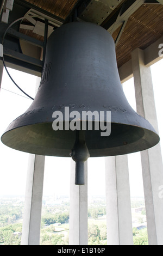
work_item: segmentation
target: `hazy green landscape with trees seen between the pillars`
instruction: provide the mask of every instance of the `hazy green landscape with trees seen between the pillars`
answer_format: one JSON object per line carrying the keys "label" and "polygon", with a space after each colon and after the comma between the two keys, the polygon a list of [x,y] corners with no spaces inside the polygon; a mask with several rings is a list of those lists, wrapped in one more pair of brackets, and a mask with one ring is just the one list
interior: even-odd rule
{"label": "hazy green landscape with trees seen between the pillars", "polygon": [[[0,245],[20,245],[24,196],[0,196]],[[70,198],[43,196],[40,245],[68,245]],[[147,245],[145,200],[131,198],[134,245]],[[88,245],[106,245],[106,198],[88,198]]]}

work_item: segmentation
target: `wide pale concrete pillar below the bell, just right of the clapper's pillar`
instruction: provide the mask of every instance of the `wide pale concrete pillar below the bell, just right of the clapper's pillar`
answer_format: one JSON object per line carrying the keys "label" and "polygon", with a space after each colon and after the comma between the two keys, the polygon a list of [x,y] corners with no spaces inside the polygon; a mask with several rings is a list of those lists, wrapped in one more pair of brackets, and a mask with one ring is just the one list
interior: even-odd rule
{"label": "wide pale concrete pillar below the bell, just right of the clapper's pillar", "polygon": [[108,245],[133,245],[127,155],[105,157]]}

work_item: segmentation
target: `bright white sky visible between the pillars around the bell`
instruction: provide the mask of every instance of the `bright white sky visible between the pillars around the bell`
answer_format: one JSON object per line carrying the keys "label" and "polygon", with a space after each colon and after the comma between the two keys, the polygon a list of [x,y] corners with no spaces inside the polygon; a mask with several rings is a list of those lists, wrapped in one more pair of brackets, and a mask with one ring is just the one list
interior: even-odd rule
{"label": "bright white sky visible between the pillars around the bell", "polygon": [[[27,94],[34,97],[36,84],[40,78],[9,69],[11,77]],[[151,66],[155,105],[158,115],[161,150],[163,150],[163,122],[162,122],[162,95],[163,95],[163,59]],[[136,109],[134,81],[131,78],[123,84],[124,93],[130,105]],[[26,95],[12,83],[6,71],[0,91],[0,136],[7,129],[12,120],[17,118],[32,103]],[[0,142],[0,196],[22,195],[26,191],[28,168],[28,153],[10,149]],[[70,194],[70,158],[46,156],[43,196]],[[142,173],[140,153],[128,155],[130,194],[131,197],[143,197]],[[105,161],[104,157],[88,160],[88,196],[105,196]]]}

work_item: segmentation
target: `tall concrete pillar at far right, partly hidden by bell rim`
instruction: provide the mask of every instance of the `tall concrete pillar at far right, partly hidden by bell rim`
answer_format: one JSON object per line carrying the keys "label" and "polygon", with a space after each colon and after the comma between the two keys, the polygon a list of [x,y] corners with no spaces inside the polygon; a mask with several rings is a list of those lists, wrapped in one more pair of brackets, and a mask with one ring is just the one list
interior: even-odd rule
{"label": "tall concrete pillar at far right, partly hidden by bell rim", "polygon": [[[158,132],[150,67],[144,64],[143,51],[132,52],[137,113],[145,117]],[[163,166],[160,143],[141,152],[143,188],[145,193],[148,243],[163,245],[163,198],[159,196],[163,185]]]}

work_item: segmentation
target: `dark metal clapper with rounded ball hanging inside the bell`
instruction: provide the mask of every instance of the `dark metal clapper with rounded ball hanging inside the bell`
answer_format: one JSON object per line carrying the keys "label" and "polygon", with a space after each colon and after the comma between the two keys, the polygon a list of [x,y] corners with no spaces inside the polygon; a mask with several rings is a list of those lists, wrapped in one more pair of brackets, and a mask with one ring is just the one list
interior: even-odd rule
{"label": "dark metal clapper with rounded ball hanging inside the bell", "polygon": [[76,162],[76,176],[75,184],[84,185],[84,171],[85,171],[85,161],[89,158],[89,150],[87,149],[85,143],[84,131],[76,131],[76,142],[74,143],[73,149],[70,152],[70,156],[73,161]]}

